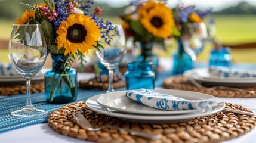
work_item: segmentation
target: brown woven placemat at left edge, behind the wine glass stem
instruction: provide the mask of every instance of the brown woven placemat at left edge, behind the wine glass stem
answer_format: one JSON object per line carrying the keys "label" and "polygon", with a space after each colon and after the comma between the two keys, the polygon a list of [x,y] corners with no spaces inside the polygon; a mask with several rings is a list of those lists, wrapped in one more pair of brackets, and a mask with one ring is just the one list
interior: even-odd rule
{"label": "brown woven placemat at left edge, behind the wine glass stem", "polygon": [[[44,92],[44,81],[31,83],[31,93]],[[26,83],[18,85],[0,85],[0,95],[26,94]]]}

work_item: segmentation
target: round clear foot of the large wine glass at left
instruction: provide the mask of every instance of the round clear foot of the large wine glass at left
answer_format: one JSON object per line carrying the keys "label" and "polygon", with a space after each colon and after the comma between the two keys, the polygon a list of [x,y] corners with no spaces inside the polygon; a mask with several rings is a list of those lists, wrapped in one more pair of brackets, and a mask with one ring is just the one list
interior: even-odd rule
{"label": "round clear foot of the large wine glass at left", "polygon": [[23,108],[21,110],[12,111],[11,115],[17,117],[35,117],[47,114],[47,111],[36,108]]}

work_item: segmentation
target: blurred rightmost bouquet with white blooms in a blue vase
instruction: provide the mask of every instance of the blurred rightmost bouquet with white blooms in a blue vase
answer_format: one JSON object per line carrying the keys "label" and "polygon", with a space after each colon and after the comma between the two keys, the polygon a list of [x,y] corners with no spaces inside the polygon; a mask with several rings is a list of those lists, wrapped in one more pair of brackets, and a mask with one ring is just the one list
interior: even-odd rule
{"label": "blurred rightmost bouquet with white blooms in a blue vase", "polygon": [[178,49],[174,53],[173,74],[181,74],[193,68],[196,55],[204,48],[203,42],[207,38],[207,29],[203,18],[211,10],[196,11],[195,7],[176,7],[173,9],[175,26],[173,36],[177,40]]}

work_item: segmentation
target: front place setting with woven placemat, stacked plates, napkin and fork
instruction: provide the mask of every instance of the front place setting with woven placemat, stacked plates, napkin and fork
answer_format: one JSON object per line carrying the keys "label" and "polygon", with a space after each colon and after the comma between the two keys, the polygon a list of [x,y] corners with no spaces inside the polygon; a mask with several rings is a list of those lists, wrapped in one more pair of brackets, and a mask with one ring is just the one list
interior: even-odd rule
{"label": "front place setting with woven placemat, stacked plates, napkin and fork", "polygon": [[[242,113],[234,113],[234,110]],[[206,142],[235,138],[238,135],[231,136],[229,133],[243,130],[240,123],[245,120],[247,123],[254,122],[254,116],[245,107],[225,103],[208,94],[137,89],[99,94],[87,101],[65,105],[50,114],[48,125],[63,135],[96,142],[101,139],[124,141],[128,138],[136,141],[168,141],[166,137],[170,138],[170,133],[177,133],[178,138],[189,133],[186,139],[193,138],[195,141],[199,141],[202,135],[208,136],[203,140]],[[226,126],[233,126],[233,130]],[[210,131],[219,129],[220,132]],[[106,135],[97,134],[99,130]],[[193,133],[199,134],[193,136]]]}

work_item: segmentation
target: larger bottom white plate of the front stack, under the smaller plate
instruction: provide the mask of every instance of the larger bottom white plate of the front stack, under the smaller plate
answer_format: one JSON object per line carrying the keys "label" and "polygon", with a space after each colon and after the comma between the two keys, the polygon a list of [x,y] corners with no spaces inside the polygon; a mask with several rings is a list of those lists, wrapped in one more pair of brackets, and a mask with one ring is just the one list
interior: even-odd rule
{"label": "larger bottom white plate of the front stack, under the smaller plate", "polygon": [[[196,110],[192,113],[187,114],[175,114],[175,115],[145,115],[145,114],[127,114],[127,113],[116,113],[116,112],[109,112],[103,110],[101,106],[97,103],[97,98],[100,95],[95,95],[94,97],[88,98],[86,105],[92,111],[95,111],[100,114],[105,114],[108,116],[118,117],[124,120],[131,120],[134,122],[147,122],[147,123],[171,123],[171,122],[181,122],[184,120],[193,119],[195,117],[207,116],[209,114],[217,113],[225,107],[225,103],[220,98],[214,97],[208,94],[201,94],[199,92],[191,92],[191,91],[178,91],[178,90],[169,90],[169,89],[161,89],[161,90],[152,90],[155,92],[159,92],[162,94],[172,94],[172,95],[187,95],[191,98],[195,97],[199,100],[211,100],[215,101],[215,106],[212,107],[211,110],[200,111]],[[123,95],[127,91],[118,91],[113,92],[113,94]],[[111,93],[110,93],[111,94]],[[182,97],[182,96],[181,96]]]}

